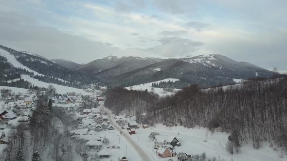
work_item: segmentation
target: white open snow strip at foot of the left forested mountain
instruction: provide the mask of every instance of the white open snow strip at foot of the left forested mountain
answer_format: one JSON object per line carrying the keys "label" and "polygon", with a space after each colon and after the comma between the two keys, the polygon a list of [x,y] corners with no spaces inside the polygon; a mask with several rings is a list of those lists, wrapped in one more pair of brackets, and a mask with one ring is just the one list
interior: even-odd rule
{"label": "white open snow strip at foot of the left forested mountain", "polygon": [[82,95],[91,95],[91,93],[88,93],[82,89],[78,89],[78,88],[73,88],[73,87],[67,87],[67,86],[63,86],[63,85],[58,85],[58,84],[53,84],[53,83],[46,83],[46,82],[43,82],[43,81],[39,81],[39,80],[36,80],[34,78],[31,78],[30,76],[28,75],[21,75],[21,78],[24,80],[24,81],[29,81],[30,83],[34,84],[35,86],[38,86],[38,87],[44,87],[44,88],[48,88],[49,85],[53,85],[55,88],[56,88],[56,92],[58,94],[66,94],[66,93],[69,93],[69,92],[76,92],[76,93],[80,93]]}

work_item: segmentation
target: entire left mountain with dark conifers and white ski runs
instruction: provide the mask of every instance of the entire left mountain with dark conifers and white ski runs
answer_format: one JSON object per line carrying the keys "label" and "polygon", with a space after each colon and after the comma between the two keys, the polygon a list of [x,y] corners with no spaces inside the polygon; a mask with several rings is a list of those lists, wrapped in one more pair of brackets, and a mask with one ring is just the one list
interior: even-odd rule
{"label": "entire left mountain with dark conifers and white ski runs", "polygon": [[78,91],[76,88],[99,83],[90,75],[72,71],[36,54],[20,52],[4,46],[0,46],[0,67],[0,86],[47,88],[49,84],[53,84],[61,91],[71,89],[69,87]]}

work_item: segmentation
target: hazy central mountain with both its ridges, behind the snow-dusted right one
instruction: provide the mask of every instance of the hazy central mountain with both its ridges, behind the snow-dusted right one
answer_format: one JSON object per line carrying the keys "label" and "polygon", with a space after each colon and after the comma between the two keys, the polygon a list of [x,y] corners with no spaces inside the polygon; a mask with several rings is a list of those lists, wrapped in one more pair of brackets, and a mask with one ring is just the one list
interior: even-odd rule
{"label": "hazy central mountain with both its ridges, behind the snow-dusted right one", "polygon": [[97,59],[85,64],[79,67],[77,70],[88,74],[96,74],[103,70],[110,69],[95,75],[96,77],[100,78],[110,78],[112,76],[116,76],[134,69],[139,69],[160,61],[162,60],[158,58],[141,58],[133,56],[118,58],[117,56],[108,56],[106,58]]}

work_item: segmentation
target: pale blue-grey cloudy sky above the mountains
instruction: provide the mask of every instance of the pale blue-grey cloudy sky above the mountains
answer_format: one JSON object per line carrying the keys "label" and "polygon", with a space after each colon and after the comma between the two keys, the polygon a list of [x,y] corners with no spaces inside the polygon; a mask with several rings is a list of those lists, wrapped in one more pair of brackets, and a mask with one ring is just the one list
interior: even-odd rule
{"label": "pale blue-grey cloudy sky above the mountains", "polygon": [[89,63],[221,54],[287,71],[287,0],[0,0],[0,45]]}

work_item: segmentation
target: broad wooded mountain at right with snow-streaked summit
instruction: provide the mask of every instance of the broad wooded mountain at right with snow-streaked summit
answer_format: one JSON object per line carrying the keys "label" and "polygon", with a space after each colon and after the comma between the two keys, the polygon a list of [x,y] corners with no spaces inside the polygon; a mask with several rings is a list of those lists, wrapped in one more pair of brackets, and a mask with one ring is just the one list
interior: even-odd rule
{"label": "broad wooded mountain at right with snow-streaked summit", "polygon": [[[174,78],[180,80],[170,83],[174,88],[182,88],[188,84],[208,87],[219,83],[231,84],[234,83],[233,79],[271,77],[272,75],[271,71],[254,64],[237,62],[222,55],[210,54],[165,60],[115,76],[109,82],[113,85],[131,86]],[[158,87],[161,86],[164,86],[164,83]]]}

